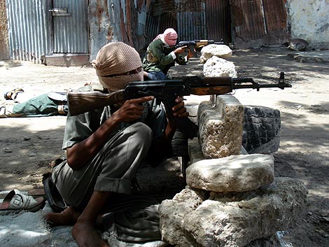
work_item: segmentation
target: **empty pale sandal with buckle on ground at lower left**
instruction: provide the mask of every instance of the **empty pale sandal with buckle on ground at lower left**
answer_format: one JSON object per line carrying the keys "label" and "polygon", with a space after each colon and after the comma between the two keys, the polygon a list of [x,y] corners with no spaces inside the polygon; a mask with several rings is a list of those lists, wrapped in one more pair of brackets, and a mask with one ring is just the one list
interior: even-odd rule
{"label": "empty pale sandal with buckle on ground at lower left", "polygon": [[32,197],[20,190],[10,190],[0,203],[0,213],[14,213],[18,211],[36,212],[45,204],[45,198]]}

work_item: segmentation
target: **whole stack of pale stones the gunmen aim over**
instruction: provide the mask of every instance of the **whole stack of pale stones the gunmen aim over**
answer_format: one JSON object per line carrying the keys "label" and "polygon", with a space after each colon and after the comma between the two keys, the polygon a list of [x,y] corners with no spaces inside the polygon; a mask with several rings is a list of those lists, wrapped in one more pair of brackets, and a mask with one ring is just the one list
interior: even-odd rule
{"label": "whole stack of pale stones the gunmen aim over", "polygon": [[[218,58],[232,55],[224,46],[204,47],[200,62],[207,66],[216,54],[214,61],[223,66]],[[228,67],[221,76],[236,75],[235,67]],[[244,106],[232,95],[200,104],[200,136],[188,141],[186,189],[159,207],[164,241],[177,247],[280,246],[276,232],[301,217],[307,204],[304,184],[274,177],[272,155],[249,155],[241,148],[243,121]]]}

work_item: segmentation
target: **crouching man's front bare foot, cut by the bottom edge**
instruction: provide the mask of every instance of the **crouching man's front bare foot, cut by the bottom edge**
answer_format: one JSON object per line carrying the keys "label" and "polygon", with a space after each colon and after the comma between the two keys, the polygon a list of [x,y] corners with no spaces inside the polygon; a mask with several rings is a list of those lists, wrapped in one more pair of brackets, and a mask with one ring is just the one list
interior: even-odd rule
{"label": "crouching man's front bare foot, cut by the bottom edge", "polygon": [[80,247],[110,247],[89,222],[78,220],[71,233]]}

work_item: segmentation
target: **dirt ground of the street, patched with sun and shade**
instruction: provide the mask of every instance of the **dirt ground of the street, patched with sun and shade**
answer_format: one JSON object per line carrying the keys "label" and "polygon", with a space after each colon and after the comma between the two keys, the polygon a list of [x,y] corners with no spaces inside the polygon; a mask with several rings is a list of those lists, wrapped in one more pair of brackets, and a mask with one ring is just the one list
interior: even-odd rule
{"label": "dirt ground of the street, patched with sun and shade", "polygon": [[[325,51],[323,51],[325,52]],[[281,111],[281,146],[275,159],[276,176],[289,176],[304,182],[309,204],[300,220],[283,232],[294,247],[329,246],[329,63],[297,62],[286,48],[235,50],[228,59],[235,63],[239,77],[263,83],[276,82],[280,71],[293,85],[285,90],[237,90],[235,97],[244,105],[277,108]],[[321,55],[321,52],[320,52]],[[192,59],[176,66],[173,76],[202,73],[202,64]],[[0,62],[1,92],[22,87],[36,95],[77,89],[97,82],[90,66],[56,67],[31,62]],[[189,100],[189,99],[188,99]],[[1,106],[13,105],[1,96]],[[64,116],[0,119],[0,190],[29,190],[42,185],[42,174],[50,163],[64,155],[61,149]],[[171,197],[185,183],[176,158],[158,169],[141,167],[141,186],[160,197]]]}

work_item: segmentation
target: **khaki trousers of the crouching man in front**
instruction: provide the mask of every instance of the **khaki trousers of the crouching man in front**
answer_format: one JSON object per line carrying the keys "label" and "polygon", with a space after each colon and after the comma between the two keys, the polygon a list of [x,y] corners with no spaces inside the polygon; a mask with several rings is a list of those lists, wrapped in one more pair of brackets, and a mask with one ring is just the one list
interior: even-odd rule
{"label": "khaki trousers of the crouching man in front", "polygon": [[137,122],[111,136],[82,169],[74,171],[66,161],[54,167],[52,181],[65,201],[80,209],[85,208],[94,190],[130,195],[132,178],[151,141],[151,129]]}

